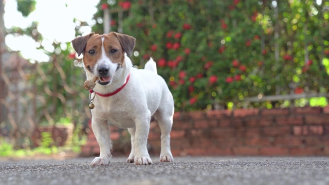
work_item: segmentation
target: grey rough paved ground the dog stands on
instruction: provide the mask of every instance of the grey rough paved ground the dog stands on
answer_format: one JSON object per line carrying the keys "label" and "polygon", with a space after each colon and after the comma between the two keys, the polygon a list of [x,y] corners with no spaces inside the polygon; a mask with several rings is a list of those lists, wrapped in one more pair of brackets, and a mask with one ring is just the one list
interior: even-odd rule
{"label": "grey rough paved ground the dog stands on", "polygon": [[329,157],[176,157],[140,166],[113,157],[0,161],[0,184],[329,184]]}

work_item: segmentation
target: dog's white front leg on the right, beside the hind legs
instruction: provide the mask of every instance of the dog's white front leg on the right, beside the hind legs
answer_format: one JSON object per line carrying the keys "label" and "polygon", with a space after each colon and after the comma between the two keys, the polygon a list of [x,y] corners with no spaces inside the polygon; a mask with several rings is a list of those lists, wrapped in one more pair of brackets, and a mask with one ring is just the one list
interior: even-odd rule
{"label": "dog's white front leg on the right, beside the hind legs", "polygon": [[148,165],[152,164],[152,160],[148,153],[147,149],[147,140],[149,136],[149,129],[150,129],[150,118],[151,113],[149,113],[148,117],[136,118],[136,131],[135,131],[135,156],[134,162],[135,164],[139,165]]}

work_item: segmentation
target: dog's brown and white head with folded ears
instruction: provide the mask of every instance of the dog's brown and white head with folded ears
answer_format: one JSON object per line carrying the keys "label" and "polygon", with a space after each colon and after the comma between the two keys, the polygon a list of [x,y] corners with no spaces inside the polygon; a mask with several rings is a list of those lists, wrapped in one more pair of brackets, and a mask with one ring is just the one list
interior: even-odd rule
{"label": "dog's brown and white head with folded ears", "polygon": [[98,77],[99,84],[107,85],[114,73],[125,65],[124,53],[132,54],[135,38],[116,32],[90,33],[72,40],[72,46],[79,56],[83,54],[85,69]]}

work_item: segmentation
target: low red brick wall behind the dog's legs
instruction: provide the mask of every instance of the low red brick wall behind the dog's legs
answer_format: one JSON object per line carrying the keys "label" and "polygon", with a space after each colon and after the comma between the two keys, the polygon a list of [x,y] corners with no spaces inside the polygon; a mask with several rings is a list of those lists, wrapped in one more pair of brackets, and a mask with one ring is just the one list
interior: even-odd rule
{"label": "low red brick wall behind the dog's legs", "polygon": [[[111,127],[114,155],[129,155],[130,135]],[[160,129],[151,123],[148,148],[159,155]],[[329,156],[329,106],[175,113],[174,156]],[[82,155],[99,153],[90,133]]]}

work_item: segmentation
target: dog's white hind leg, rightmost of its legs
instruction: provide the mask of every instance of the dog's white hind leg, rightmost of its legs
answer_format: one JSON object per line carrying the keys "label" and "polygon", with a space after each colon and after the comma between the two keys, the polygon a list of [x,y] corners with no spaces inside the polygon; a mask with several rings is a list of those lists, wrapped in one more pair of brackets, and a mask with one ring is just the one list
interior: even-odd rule
{"label": "dog's white hind leg, rightmost of its legs", "polygon": [[161,112],[161,110],[158,109],[154,116],[157,119],[161,130],[160,162],[172,162],[174,161],[174,158],[170,151],[170,131],[173,124],[173,114],[163,111]]}

